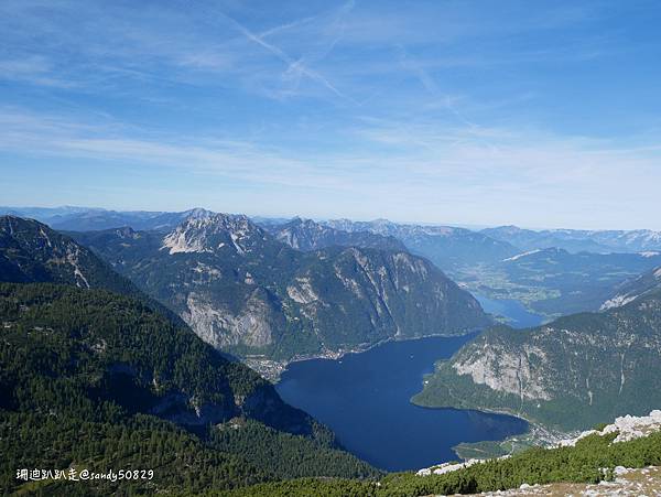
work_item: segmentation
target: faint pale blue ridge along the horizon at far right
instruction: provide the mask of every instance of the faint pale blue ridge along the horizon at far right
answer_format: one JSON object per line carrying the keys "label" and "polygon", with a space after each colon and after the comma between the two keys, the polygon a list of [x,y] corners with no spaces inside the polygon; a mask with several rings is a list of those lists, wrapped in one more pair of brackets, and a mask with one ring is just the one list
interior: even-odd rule
{"label": "faint pale blue ridge along the horizon at far right", "polygon": [[507,241],[522,250],[562,248],[570,252],[642,252],[661,250],[661,231],[638,230],[579,230],[579,229],[522,229],[500,226],[480,233]]}

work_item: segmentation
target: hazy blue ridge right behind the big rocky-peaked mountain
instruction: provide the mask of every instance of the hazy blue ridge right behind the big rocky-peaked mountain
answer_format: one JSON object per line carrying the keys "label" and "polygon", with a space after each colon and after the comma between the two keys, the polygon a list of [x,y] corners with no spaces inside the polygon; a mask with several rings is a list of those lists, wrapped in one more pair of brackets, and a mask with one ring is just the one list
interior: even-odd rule
{"label": "hazy blue ridge right behind the big rocky-peaked mountain", "polygon": [[401,225],[387,219],[373,222],[336,219],[323,224],[349,233],[369,231],[397,238],[411,252],[426,257],[444,271],[456,271],[465,266],[480,262],[499,261],[520,252],[507,241],[496,240],[481,233],[464,228]]}

